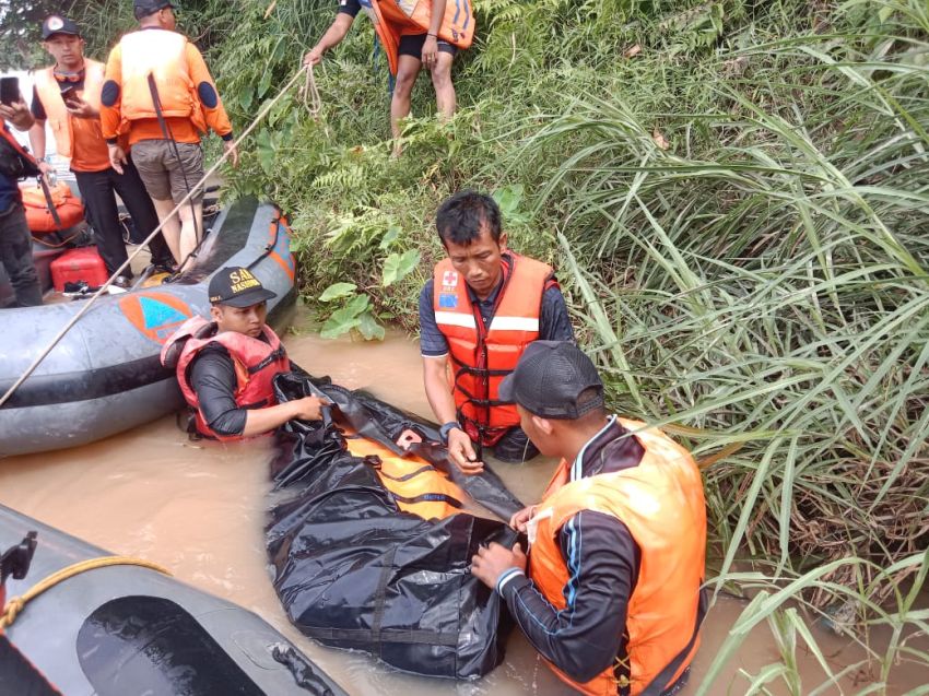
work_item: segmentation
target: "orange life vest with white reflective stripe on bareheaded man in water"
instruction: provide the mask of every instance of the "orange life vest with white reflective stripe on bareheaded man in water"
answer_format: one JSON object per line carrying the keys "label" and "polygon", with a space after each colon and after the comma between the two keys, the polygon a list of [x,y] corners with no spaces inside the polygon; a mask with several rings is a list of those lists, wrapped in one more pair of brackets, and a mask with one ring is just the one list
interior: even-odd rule
{"label": "orange life vest with white reflective stripe on bareheaded man in water", "polygon": [[490,327],[484,327],[465,276],[449,259],[436,264],[433,276],[435,321],[448,342],[458,418],[471,439],[489,446],[519,425],[516,405],[499,401],[499,384],[516,369],[526,346],[539,338],[542,295],[554,273],[541,261],[509,256],[513,263],[504,264]]}

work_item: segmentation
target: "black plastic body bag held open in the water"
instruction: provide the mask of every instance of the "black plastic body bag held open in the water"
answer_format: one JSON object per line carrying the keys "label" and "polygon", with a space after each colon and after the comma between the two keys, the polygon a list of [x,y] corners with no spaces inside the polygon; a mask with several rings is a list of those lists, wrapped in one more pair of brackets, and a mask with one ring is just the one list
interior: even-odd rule
{"label": "black plastic body bag held open in the water", "polygon": [[408,672],[474,679],[493,670],[510,623],[469,566],[481,544],[511,546],[516,533],[467,512],[430,521],[402,511],[377,462],[346,450],[332,416],[398,455],[400,433],[415,430],[424,440],[416,455],[505,519],[519,500],[490,471],[455,476],[434,425],[368,394],[302,373],[279,376],[275,390],[281,402],[318,394],[334,404],[322,422],[294,421],[277,436],[267,545],[290,620],[325,645],[366,650]]}

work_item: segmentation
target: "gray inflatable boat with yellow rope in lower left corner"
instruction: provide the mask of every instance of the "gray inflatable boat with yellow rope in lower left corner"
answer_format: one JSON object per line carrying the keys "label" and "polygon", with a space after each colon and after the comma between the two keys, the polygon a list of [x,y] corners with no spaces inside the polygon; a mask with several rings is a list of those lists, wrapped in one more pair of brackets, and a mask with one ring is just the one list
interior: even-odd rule
{"label": "gray inflatable boat with yellow rope in lower left corner", "polygon": [[[0,506],[0,554],[32,531],[38,532],[34,556],[30,563],[23,554],[17,565],[26,577],[7,581],[8,598],[75,563],[109,556]],[[4,554],[2,565],[9,561]],[[133,565],[54,585],[25,604],[0,639],[0,692],[11,695],[345,694],[256,614]],[[27,687],[43,677],[54,689]]]}

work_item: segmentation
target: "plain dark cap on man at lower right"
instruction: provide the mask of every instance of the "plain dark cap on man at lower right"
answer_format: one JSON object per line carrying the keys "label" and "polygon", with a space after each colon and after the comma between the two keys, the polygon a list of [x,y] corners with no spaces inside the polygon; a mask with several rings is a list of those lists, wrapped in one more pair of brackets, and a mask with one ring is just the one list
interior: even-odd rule
{"label": "plain dark cap on man at lower right", "polygon": [[576,420],[603,406],[603,381],[591,359],[571,341],[533,341],[501,382],[498,396],[543,418]]}

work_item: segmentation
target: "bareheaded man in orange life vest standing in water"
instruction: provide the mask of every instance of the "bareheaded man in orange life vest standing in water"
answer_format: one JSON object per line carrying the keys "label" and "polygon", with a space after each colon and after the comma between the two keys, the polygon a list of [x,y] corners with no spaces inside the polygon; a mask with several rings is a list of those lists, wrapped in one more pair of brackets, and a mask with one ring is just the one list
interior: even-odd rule
{"label": "bareheaded man in orange life vest standing in water", "polygon": [[497,388],[532,341],[574,339],[554,272],[507,249],[490,196],[452,196],[439,208],[436,227],[448,258],[420,294],[420,349],[426,397],[449,457],[469,474],[481,472],[485,446],[503,461],[531,459],[539,450]]}

